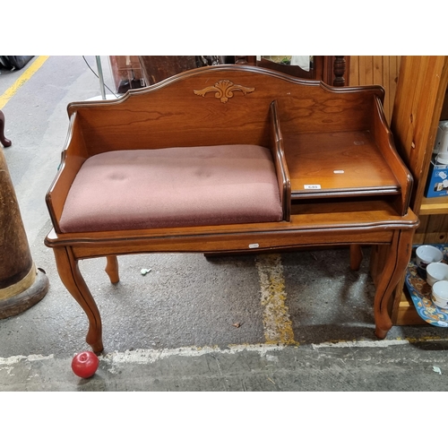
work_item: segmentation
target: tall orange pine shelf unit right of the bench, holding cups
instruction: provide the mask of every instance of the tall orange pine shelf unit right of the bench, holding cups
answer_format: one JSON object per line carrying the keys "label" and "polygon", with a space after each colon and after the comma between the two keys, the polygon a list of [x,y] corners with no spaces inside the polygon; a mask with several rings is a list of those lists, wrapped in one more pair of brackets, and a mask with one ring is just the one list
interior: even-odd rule
{"label": "tall orange pine shelf unit right of the bench, holding cups", "polygon": [[[448,198],[426,198],[425,187],[440,120],[448,119],[448,56],[401,56],[391,129],[414,185],[410,207],[418,215],[414,244],[448,242]],[[372,254],[372,275],[381,272],[381,248]],[[395,290],[392,323],[425,323],[407,296],[404,280]]]}

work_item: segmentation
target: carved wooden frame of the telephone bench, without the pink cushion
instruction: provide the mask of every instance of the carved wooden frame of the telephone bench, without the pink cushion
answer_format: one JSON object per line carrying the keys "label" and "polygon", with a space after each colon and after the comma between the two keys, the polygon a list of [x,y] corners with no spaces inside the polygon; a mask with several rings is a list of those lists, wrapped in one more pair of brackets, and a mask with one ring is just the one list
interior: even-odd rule
{"label": "carved wooden frame of the telephone bench, without the pink cushion", "polygon": [[[412,178],[394,149],[382,101],[383,89],[379,86],[334,89],[323,82],[297,80],[259,67],[218,65],[130,90],[122,99],[70,104],[63,161],[46,198],[53,229],[45,244],[54,250],[66,289],[88,317],[86,340],[91,348],[97,353],[103,349],[101,319],[79,270],[82,259],[107,257],[106,271],[110,281],[116,283],[116,257],[120,254],[257,253],[314,246],[350,245],[352,254],[358,254],[360,245],[386,247],[383,271],[376,277],[374,306],[375,334],[384,338],[392,327],[392,290],[409,263],[418,219],[409,210]],[[334,143],[336,158],[346,160],[350,173],[363,163],[372,163],[367,157],[370,151],[384,166],[379,171],[375,166],[361,167],[366,168],[363,173],[378,171],[381,175],[388,169],[387,176],[396,182],[392,186],[389,180],[383,183],[374,173],[372,182],[378,181],[374,186],[363,178],[359,185],[352,185],[351,179],[346,188],[340,186],[340,178],[322,177],[320,191],[307,194],[306,190],[291,189],[291,183],[298,184],[297,178],[289,178],[289,172],[300,172],[295,159],[300,157],[297,148],[301,140],[306,140],[301,135],[309,133],[320,137],[328,134],[330,142],[342,141],[347,135],[352,139],[352,134],[364,136],[368,140],[361,142],[366,161],[353,157],[356,148],[348,148],[346,142],[340,148]],[[238,143],[271,148],[284,207],[280,222],[60,231],[59,220],[70,186],[82,163],[92,155]],[[315,152],[318,157],[319,151]],[[359,258],[352,267],[358,263]]]}

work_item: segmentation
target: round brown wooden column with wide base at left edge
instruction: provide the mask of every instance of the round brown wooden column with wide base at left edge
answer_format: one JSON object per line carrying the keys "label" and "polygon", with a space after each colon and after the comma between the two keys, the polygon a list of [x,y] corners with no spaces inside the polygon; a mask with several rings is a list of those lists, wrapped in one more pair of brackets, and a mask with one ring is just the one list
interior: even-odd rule
{"label": "round brown wooden column with wide base at left edge", "polygon": [[19,204],[0,147],[0,319],[22,313],[45,297],[47,276],[36,269]]}

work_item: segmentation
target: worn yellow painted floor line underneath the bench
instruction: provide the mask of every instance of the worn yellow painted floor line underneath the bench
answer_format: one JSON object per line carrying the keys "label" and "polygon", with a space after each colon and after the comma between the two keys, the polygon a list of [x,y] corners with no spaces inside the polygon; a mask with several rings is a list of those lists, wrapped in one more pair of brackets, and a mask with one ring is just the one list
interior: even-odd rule
{"label": "worn yellow painted floor line underneath the bench", "polygon": [[267,344],[295,344],[283,265],[279,254],[258,255],[255,260],[262,289],[264,338]]}

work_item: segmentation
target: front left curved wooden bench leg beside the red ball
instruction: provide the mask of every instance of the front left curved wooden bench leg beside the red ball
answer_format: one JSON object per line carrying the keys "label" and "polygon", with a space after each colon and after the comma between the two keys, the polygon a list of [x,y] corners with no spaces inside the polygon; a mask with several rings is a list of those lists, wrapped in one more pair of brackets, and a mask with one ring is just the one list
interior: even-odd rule
{"label": "front left curved wooden bench leg beside the red ball", "polygon": [[98,354],[103,351],[102,326],[98,306],[82,278],[78,260],[74,258],[71,247],[54,247],[53,250],[55,252],[59,277],[64,283],[65,288],[80,304],[89,320],[89,331],[87,332],[86,342]]}

